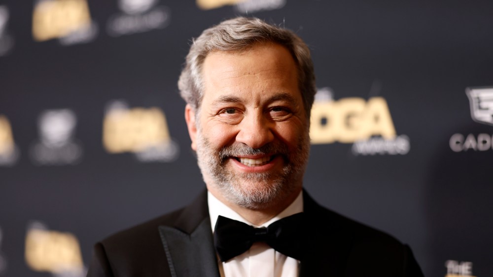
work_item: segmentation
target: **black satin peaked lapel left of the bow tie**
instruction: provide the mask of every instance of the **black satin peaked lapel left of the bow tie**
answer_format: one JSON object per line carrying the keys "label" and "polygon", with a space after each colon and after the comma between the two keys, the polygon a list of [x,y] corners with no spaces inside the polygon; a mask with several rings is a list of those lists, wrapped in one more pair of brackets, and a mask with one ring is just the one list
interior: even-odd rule
{"label": "black satin peaked lapel left of the bow tie", "polygon": [[159,227],[171,276],[219,277],[211,230],[207,191],[183,210],[175,227]]}

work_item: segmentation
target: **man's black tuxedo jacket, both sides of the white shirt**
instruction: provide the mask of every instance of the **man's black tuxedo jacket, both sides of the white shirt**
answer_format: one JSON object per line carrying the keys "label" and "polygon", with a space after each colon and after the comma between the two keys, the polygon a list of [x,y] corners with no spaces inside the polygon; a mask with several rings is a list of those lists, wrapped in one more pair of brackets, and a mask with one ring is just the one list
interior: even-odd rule
{"label": "man's black tuxedo jacket, both sides of the white shirt", "polygon": [[[311,235],[301,277],[421,277],[411,249],[319,206],[303,192]],[[88,277],[219,277],[207,191],[191,205],[94,246]]]}

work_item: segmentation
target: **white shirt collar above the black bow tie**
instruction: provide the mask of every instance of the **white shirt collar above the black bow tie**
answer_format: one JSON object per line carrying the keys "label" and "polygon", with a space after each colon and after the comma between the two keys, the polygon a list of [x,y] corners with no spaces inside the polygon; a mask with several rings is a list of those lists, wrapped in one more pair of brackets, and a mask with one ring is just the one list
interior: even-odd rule
{"label": "white shirt collar above the black bow tie", "polygon": [[300,194],[298,194],[296,199],[294,199],[293,203],[291,203],[286,209],[284,209],[281,213],[274,216],[269,221],[265,222],[260,226],[254,225],[253,223],[249,222],[241,215],[239,215],[237,212],[230,209],[224,203],[219,201],[219,199],[215,198],[210,191],[207,192],[207,202],[209,206],[209,215],[211,216],[212,232],[214,231],[215,223],[217,221],[217,216],[219,215],[244,222],[254,227],[267,227],[271,223],[281,218],[303,212],[303,190],[300,191]]}

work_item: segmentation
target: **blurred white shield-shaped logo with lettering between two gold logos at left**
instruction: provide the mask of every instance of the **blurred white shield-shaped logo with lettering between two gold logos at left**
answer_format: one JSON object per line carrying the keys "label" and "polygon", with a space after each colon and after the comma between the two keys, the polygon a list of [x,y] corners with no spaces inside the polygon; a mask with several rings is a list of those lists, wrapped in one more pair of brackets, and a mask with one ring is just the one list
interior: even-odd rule
{"label": "blurred white shield-shaped logo with lettering between two gold logos at left", "polygon": [[31,147],[31,158],[38,165],[76,164],[82,146],[73,138],[77,118],[70,109],[46,110],[38,118],[40,139]]}

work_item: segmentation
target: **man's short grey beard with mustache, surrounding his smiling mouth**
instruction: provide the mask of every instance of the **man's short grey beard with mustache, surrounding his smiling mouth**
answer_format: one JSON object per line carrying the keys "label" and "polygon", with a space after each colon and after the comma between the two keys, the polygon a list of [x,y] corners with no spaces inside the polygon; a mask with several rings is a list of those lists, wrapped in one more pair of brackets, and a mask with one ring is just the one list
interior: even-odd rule
{"label": "man's short grey beard with mustache, surrounding his smiling mouth", "polygon": [[[197,140],[197,158],[202,175],[211,177],[213,182],[208,185],[217,188],[229,202],[252,210],[274,206],[296,191],[301,185],[310,152],[308,134],[300,137],[295,153],[281,143],[269,143],[258,149],[233,144],[217,153],[200,131]],[[278,176],[272,173],[233,173],[225,167],[226,160],[232,156],[271,153],[281,155],[284,160],[285,165]]]}

